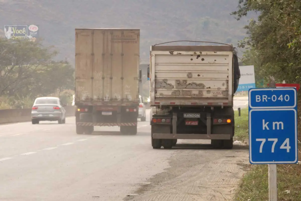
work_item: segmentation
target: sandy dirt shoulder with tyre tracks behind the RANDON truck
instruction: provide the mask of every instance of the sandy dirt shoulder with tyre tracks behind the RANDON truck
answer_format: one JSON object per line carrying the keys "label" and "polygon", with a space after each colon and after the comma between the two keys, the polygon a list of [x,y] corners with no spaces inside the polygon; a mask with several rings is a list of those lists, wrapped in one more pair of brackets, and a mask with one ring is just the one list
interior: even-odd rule
{"label": "sandy dirt shoulder with tyre tracks behind the RANDON truck", "polygon": [[[181,144],[181,143],[190,144]],[[214,150],[210,140],[180,141],[170,167],[155,175],[124,200],[133,201],[225,201],[233,197],[248,163],[248,147],[235,144],[232,150]]]}

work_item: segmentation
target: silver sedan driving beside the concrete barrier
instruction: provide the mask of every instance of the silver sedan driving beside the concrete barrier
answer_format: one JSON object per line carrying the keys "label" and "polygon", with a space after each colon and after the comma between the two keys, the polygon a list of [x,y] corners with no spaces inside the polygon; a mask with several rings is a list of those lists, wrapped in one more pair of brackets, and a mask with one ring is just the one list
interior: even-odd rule
{"label": "silver sedan driving beside the concrete barrier", "polygon": [[33,103],[31,110],[31,121],[39,124],[40,121],[58,121],[59,124],[65,123],[64,105],[57,97],[39,97]]}

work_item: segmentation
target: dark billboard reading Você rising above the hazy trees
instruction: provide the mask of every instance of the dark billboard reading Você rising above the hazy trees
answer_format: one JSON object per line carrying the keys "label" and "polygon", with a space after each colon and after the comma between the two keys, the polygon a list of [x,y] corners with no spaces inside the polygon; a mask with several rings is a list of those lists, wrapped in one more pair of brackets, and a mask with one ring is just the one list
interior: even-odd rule
{"label": "dark billboard reading Voc\u00ea rising above the hazy trees", "polygon": [[6,39],[30,40],[35,42],[40,36],[39,25],[4,25]]}

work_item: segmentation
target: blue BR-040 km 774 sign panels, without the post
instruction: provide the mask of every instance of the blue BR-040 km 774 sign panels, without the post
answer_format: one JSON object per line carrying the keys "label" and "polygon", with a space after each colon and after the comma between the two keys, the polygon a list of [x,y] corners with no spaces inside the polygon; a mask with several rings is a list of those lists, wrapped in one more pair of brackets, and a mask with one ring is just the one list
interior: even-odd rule
{"label": "blue BR-040 km 774 sign panels, without the post", "polygon": [[298,162],[295,88],[249,90],[251,164]]}

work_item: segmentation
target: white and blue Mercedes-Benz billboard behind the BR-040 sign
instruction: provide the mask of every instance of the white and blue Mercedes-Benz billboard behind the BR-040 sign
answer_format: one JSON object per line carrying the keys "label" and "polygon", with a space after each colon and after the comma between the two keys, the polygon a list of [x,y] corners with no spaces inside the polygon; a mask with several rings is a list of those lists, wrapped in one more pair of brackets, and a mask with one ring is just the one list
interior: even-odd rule
{"label": "white and blue Mercedes-Benz billboard behind the BR-040 sign", "polygon": [[237,88],[237,92],[248,91],[255,87],[255,73],[254,66],[240,66],[240,79]]}

